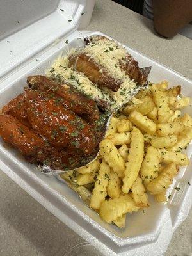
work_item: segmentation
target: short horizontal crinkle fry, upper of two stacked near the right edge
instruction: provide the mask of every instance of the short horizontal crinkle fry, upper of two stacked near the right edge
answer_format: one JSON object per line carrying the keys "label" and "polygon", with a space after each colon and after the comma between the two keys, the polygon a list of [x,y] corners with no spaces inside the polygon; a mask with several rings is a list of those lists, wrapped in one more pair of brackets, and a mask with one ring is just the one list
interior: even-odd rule
{"label": "short horizontal crinkle fry, upper of two stacked near the right edge", "polygon": [[179,134],[184,129],[181,122],[170,122],[166,124],[157,124],[157,133],[159,136],[168,136],[172,134]]}

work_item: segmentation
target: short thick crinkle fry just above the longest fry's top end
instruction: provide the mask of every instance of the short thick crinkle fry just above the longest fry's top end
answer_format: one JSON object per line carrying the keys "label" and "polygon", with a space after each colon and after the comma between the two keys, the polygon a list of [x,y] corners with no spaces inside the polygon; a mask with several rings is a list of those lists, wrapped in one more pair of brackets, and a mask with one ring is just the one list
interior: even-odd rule
{"label": "short thick crinkle fry just above the longest fry's top end", "polygon": [[150,120],[147,116],[143,116],[138,111],[133,111],[129,115],[129,120],[141,130],[147,132],[148,134],[153,135],[156,132],[157,125]]}

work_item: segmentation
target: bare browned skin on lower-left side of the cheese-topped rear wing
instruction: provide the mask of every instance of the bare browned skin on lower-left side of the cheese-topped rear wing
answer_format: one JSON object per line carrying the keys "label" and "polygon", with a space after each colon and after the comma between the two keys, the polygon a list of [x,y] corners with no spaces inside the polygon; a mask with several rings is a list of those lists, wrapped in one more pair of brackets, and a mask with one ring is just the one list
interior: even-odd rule
{"label": "bare browned skin on lower-left side of the cheese-topped rear wing", "polygon": [[102,67],[96,65],[96,63],[86,54],[72,54],[69,56],[69,66],[75,67],[79,72],[82,72],[87,76],[90,81],[99,86],[106,86],[113,91],[117,91],[122,83],[121,80],[114,79],[109,76],[107,72],[100,73]]}

